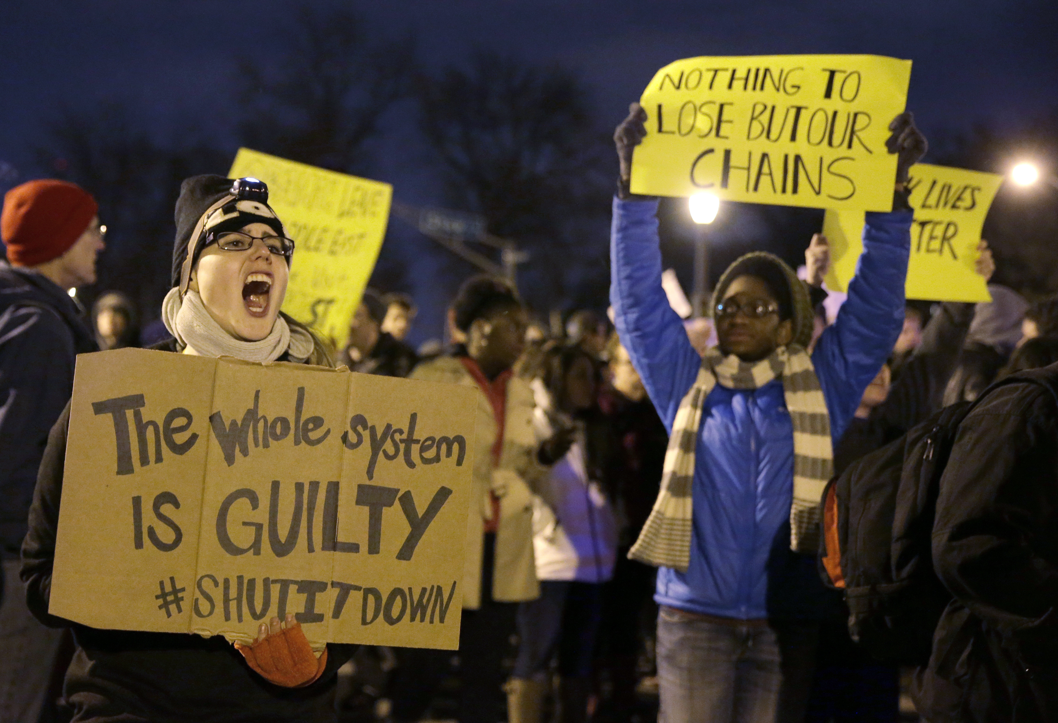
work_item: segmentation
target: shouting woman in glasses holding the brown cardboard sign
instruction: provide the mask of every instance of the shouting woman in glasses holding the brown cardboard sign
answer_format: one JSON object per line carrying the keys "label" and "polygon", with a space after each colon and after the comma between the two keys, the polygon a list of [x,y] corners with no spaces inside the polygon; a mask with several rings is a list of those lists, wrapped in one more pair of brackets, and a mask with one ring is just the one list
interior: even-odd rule
{"label": "shouting woman in glasses holding the brown cardboard sign", "polygon": [[[153,348],[333,366],[322,343],[279,311],[294,242],[268,205],[262,182],[189,178],[181,186],[176,222],[172,288],[162,308],[172,337]],[[34,615],[44,625],[73,629],[77,647],[63,686],[73,720],[333,720],[334,671],[351,647],[331,644],[317,657],[291,614],[262,622],[251,645],[222,636],[96,630],[49,615],[69,419],[67,404],[40,465],[21,577]]]}

